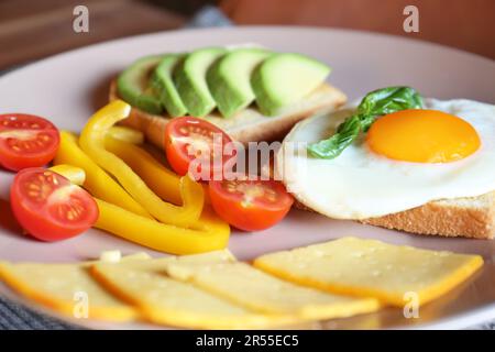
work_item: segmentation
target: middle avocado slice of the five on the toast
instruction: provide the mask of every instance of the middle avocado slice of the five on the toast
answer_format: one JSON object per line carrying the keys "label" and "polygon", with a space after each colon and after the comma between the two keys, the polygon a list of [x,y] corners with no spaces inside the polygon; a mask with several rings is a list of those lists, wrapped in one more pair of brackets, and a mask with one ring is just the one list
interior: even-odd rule
{"label": "middle avocado slice of the five on the toast", "polygon": [[205,117],[217,107],[206,81],[208,68],[223,54],[224,48],[208,47],[190,53],[174,73],[174,82],[189,114]]}

